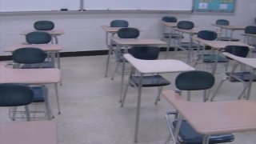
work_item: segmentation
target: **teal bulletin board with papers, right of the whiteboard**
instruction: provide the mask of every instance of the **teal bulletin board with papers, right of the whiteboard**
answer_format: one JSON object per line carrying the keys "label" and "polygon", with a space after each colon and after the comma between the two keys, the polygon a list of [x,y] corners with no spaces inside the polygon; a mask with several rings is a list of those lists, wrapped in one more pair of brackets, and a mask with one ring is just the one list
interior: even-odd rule
{"label": "teal bulletin board with papers, right of the whiteboard", "polygon": [[236,0],[194,0],[194,12],[234,13]]}

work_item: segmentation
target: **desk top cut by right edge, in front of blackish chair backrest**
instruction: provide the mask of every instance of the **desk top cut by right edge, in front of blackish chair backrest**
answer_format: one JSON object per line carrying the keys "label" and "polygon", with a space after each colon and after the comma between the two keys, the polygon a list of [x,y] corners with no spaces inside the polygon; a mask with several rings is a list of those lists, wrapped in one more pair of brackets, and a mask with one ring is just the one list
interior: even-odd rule
{"label": "desk top cut by right edge, in front of blackish chair backrest", "polygon": [[234,54],[230,54],[230,53],[227,53],[227,52],[224,52],[222,54],[225,55],[226,57],[234,59],[235,61],[246,64],[247,66],[251,66],[253,68],[256,68],[256,58],[242,58],[242,57],[238,57]]}

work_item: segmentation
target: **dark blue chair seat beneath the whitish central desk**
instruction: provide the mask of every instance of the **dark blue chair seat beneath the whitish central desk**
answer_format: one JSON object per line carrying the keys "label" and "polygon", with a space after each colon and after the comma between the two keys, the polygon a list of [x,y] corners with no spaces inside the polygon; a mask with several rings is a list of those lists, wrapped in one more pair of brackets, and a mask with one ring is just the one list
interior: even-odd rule
{"label": "dark blue chair seat beneath the whitish central desk", "polygon": [[[134,82],[136,86],[139,84],[139,76],[132,76],[131,81]],[[170,85],[170,82],[163,78],[161,75],[150,75],[142,77],[142,87],[151,87],[151,86],[167,86]]]}

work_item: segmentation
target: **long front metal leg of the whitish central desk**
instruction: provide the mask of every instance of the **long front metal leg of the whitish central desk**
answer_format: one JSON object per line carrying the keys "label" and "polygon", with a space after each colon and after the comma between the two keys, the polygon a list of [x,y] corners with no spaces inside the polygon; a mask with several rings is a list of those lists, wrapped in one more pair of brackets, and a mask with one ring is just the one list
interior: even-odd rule
{"label": "long front metal leg of the whitish central desk", "polygon": [[142,99],[142,77],[143,77],[143,74],[140,74],[139,86],[138,86],[138,102],[137,102],[134,142],[138,142],[138,124],[139,124],[141,99]]}

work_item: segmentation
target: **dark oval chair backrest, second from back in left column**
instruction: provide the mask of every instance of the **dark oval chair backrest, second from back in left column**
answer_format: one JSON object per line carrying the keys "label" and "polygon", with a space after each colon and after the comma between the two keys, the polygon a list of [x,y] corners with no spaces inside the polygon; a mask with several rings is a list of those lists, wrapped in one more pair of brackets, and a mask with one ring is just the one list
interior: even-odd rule
{"label": "dark oval chair backrest, second from back in left column", "polygon": [[34,31],[26,34],[26,42],[31,44],[44,44],[51,41],[51,35],[43,31]]}

